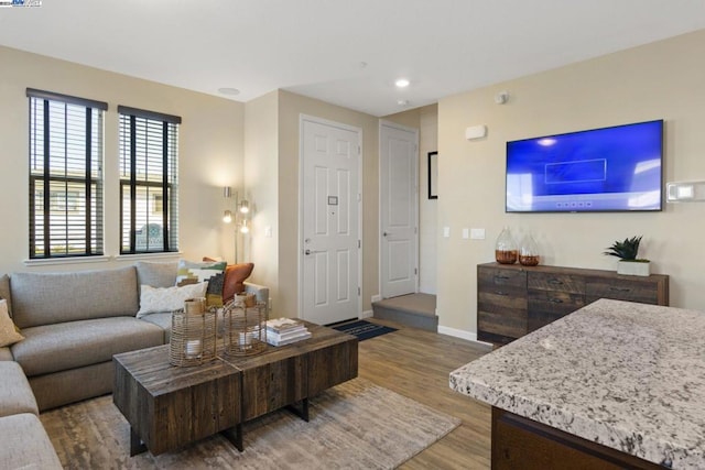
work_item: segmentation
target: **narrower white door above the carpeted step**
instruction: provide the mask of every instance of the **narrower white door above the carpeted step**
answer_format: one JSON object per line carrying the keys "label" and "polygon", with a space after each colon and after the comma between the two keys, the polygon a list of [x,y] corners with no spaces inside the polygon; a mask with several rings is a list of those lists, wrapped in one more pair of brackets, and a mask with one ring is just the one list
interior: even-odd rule
{"label": "narrower white door above the carpeted step", "polygon": [[380,122],[380,288],[384,298],[419,285],[419,131]]}

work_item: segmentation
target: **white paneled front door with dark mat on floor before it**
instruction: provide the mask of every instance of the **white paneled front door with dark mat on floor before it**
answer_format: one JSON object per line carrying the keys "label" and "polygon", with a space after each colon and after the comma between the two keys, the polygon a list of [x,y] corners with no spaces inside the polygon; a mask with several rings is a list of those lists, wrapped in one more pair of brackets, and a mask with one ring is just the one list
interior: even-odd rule
{"label": "white paneled front door with dark mat on floor before it", "polygon": [[360,134],[302,117],[302,317],[319,325],[360,311]]}

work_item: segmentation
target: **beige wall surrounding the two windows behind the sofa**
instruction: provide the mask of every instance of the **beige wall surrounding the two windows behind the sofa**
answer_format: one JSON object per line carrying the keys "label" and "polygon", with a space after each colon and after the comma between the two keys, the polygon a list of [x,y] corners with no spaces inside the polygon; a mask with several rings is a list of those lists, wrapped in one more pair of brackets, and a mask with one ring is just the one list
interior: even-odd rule
{"label": "beige wall surrounding the two windows behind the sofa", "polygon": [[108,102],[105,113],[106,254],[119,252],[118,105],[181,116],[180,249],[232,258],[223,186],[242,181],[242,103],[0,46],[0,272],[97,269],[132,262],[25,266],[29,239],[28,98],[37,88]]}

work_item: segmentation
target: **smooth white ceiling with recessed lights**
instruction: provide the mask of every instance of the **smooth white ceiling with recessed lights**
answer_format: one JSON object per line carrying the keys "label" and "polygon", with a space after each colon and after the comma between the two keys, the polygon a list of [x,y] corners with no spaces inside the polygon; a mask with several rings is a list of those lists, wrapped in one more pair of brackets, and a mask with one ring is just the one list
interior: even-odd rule
{"label": "smooth white ceiling with recessed lights", "polygon": [[[1,45],[238,101],[282,88],[373,116],[704,28],[703,0],[42,0],[0,8]],[[393,85],[401,76],[411,80],[403,90]],[[221,95],[224,87],[240,94]]]}

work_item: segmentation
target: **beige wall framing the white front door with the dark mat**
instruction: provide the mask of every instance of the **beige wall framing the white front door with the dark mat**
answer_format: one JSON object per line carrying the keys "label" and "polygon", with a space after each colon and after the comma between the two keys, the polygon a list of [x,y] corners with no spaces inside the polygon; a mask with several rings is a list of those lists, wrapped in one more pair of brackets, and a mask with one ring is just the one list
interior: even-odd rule
{"label": "beige wall framing the white front door with the dark mat", "polygon": [[[299,311],[299,152],[301,114],[362,130],[362,310],[379,293],[379,120],[324,101],[279,91],[279,314]],[[276,308],[276,307],[275,307]]]}

